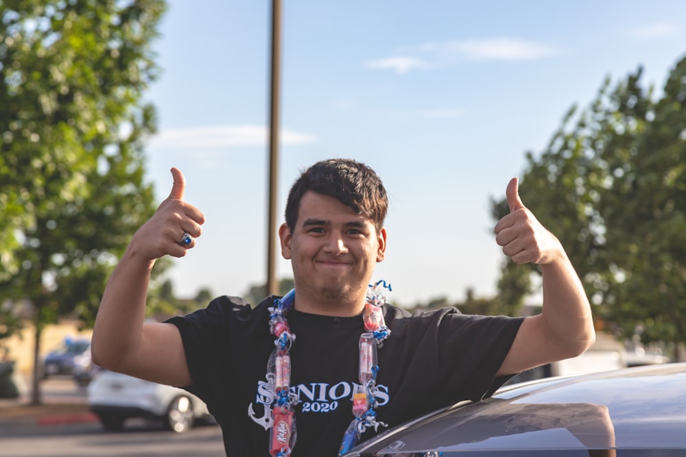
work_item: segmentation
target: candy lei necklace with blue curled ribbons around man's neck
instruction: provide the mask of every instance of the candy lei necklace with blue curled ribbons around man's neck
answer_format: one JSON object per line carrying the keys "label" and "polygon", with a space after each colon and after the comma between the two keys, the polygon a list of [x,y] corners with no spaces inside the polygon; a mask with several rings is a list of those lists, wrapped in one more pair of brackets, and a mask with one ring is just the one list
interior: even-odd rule
{"label": "candy lei necklace with blue curled ribbons around man's neck", "polygon": [[[379,285],[382,287],[380,288]],[[379,281],[370,284],[364,304],[364,332],[359,336],[359,385],[353,389],[353,416],[341,442],[338,455],[348,452],[359,441],[368,428],[377,430],[386,423],[377,421],[374,408],[377,404],[377,347],[390,335],[390,329],[383,321],[381,305],[386,297],[381,295],[383,288],[391,291],[390,284]],[[298,395],[290,391],[291,357],[289,351],[296,336],[290,331],[286,314],[293,308],[295,289],[274,300],[269,308],[269,326],[274,340],[274,351],[267,362],[268,380],[274,388],[276,397],[272,404],[272,421],[269,437],[269,452],[273,457],[289,456],[296,444],[296,417],[293,407],[298,404]]]}

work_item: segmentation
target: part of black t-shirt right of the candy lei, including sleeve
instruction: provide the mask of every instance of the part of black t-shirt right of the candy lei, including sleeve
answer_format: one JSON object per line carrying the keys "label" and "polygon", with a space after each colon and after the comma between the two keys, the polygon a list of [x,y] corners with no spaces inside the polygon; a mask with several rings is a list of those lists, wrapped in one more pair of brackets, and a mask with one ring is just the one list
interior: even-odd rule
{"label": "part of black t-shirt right of the candy lei, including sleeve", "polygon": [[429,406],[436,407],[493,394],[508,379],[496,375],[523,320],[461,314],[452,307],[411,315],[390,308],[387,317],[393,329],[388,346],[394,349],[386,370],[403,378],[399,395],[430,392]]}

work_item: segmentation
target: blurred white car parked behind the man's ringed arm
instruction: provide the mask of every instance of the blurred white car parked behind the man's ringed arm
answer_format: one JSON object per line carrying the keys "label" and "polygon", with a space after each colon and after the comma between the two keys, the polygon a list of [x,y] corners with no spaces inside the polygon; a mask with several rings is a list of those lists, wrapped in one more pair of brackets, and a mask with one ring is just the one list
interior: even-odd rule
{"label": "blurred white car parked behind the man's ringed arm", "polygon": [[174,432],[186,432],[196,421],[212,421],[206,404],[187,391],[100,369],[87,387],[88,406],[105,430],[123,429],[127,419],[163,421]]}

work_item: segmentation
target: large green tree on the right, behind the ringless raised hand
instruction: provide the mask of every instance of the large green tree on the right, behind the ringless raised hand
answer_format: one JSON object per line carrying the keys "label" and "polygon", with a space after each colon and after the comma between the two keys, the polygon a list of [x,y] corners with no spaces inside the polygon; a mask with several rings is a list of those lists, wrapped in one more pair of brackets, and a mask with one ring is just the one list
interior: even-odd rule
{"label": "large green tree on the right, behind the ringless raised hand", "polygon": [[[686,59],[656,100],[642,69],[611,87],[575,119],[576,108],[536,157],[527,153],[525,203],[565,245],[595,312],[630,336],[686,341]],[[494,216],[507,210],[493,201]],[[501,285],[530,293],[536,266]],[[519,284],[519,288],[513,284]]]}

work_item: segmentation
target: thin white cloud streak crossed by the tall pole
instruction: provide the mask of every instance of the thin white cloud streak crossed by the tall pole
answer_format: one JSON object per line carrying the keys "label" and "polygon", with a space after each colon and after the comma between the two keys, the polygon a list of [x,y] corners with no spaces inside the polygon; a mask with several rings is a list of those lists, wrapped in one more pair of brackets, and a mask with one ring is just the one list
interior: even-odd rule
{"label": "thin white cloud streak crossed by the tall pole", "polygon": [[[283,145],[314,143],[316,137],[282,129],[279,135]],[[264,125],[214,125],[209,127],[190,127],[164,129],[152,137],[151,145],[167,148],[213,148],[267,145],[269,129]]]}

